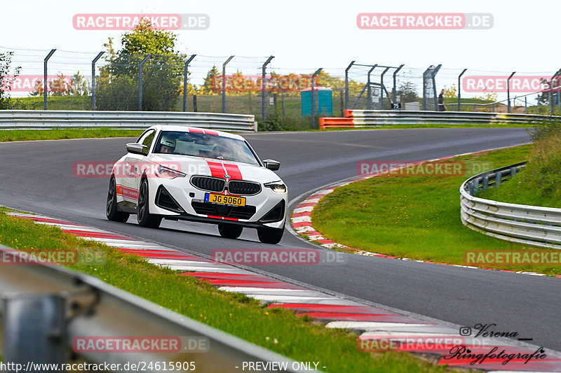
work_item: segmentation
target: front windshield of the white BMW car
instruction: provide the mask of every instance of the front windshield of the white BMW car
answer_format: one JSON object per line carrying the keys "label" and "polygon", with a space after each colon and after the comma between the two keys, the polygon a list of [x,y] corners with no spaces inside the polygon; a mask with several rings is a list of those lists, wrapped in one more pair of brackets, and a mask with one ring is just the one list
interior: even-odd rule
{"label": "front windshield of the white BMW car", "polygon": [[259,166],[257,158],[245,141],[211,134],[162,131],[154,153],[191,155]]}

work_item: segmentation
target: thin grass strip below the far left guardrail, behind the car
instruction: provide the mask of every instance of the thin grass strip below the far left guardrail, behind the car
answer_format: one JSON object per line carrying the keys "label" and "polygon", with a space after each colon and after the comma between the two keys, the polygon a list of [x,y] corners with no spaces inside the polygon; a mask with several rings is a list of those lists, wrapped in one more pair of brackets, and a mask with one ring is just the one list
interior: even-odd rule
{"label": "thin grass strip below the far left guardrail, behind the car", "polygon": [[0,129],[0,142],[60,139],[93,139],[104,137],[138,137],[142,129],[69,128],[69,129]]}

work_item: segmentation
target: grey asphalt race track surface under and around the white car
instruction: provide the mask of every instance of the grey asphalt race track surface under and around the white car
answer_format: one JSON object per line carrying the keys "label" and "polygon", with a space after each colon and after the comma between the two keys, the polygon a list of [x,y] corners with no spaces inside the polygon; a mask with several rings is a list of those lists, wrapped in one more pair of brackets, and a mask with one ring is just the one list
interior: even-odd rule
{"label": "grey asphalt race track surface under and around the white car", "polygon": [[[356,175],[361,160],[428,160],[528,141],[523,128],[383,129],[244,135],[262,159],[281,162],[290,199]],[[0,204],[210,255],[215,248],[276,248],[255,230],[222,239],[215,225],[164,220],[159,230],[104,216],[107,178],[76,178],[74,162],[114,162],[131,139],[0,143]],[[497,165],[499,167],[501,165]],[[421,198],[421,196],[419,196]],[[458,196],[459,214],[459,196]],[[281,245],[309,247],[285,232]],[[314,246],[315,247],[315,246]],[[468,247],[466,247],[468,248]],[[561,279],[346,255],[344,265],[261,266],[259,271],[460,325],[496,323],[561,351]]]}

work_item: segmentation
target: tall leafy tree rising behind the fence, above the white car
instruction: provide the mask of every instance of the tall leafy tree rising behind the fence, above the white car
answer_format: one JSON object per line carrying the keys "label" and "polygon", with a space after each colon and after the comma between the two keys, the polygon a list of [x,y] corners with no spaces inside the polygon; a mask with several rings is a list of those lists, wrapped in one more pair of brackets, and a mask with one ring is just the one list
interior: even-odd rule
{"label": "tall leafy tree rising behind the fence, above the white car", "polygon": [[106,110],[135,110],[138,107],[138,73],[140,62],[152,55],[143,65],[142,109],[171,111],[175,108],[183,77],[186,55],[175,51],[177,35],[154,28],[142,20],[135,29],[121,37],[122,48],[107,48],[106,66],[100,69],[99,107]]}

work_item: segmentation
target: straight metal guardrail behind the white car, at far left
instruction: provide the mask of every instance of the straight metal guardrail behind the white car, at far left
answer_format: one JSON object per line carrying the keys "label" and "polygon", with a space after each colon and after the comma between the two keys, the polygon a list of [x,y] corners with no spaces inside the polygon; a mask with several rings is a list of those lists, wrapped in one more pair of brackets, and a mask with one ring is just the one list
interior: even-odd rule
{"label": "straight metal guardrail behind the white car, at far left", "polygon": [[0,129],[95,128],[143,129],[152,125],[190,125],[231,131],[255,131],[255,115],[178,111],[1,110]]}

